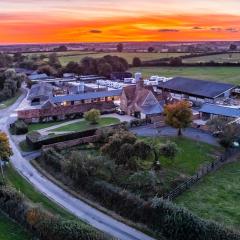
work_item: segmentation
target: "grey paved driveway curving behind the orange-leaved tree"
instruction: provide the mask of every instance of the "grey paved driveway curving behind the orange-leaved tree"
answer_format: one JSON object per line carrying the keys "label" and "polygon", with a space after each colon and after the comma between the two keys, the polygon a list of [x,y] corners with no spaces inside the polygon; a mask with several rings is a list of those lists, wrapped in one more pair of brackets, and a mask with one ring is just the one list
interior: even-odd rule
{"label": "grey paved driveway curving behind the orange-leaved tree", "polygon": [[[177,136],[177,130],[171,127],[162,127],[162,128],[154,128],[153,125],[142,126],[138,128],[134,128],[131,130],[139,136],[144,137],[154,137],[154,136]],[[215,137],[212,135],[205,133],[199,129],[195,128],[187,128],[183,131],[183,136],[187,138],[191,138],[196,141],[205,142],[211,145],[219,146],[219,143]]]}

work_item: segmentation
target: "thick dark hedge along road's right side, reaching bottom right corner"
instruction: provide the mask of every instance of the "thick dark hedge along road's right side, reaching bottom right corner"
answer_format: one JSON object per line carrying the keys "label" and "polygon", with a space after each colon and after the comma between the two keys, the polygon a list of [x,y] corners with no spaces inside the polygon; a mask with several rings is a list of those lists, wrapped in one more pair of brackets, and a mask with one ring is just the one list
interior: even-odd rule
{"label": "thick dark hedge along road's right side, reaching bottom right corner", "polygon": [[169,240],[240,240],[238,233],[205,221],[169,201],[160,198],[144,201],[105,181],[88,181],[84,187],[107,208],[145,224]]}

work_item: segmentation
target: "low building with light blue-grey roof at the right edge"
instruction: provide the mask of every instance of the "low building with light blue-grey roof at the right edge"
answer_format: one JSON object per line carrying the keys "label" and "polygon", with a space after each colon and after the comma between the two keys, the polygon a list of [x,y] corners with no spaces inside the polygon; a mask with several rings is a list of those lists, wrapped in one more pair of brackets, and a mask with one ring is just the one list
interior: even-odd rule
{"label": "low building with light blue-grey roof at the right edge", "polygon": [[234,108],[223,105],[205,103],[199,109],[200,116],[204,120],[212,119],[214,117],[225,117],[229,120],[240,118],[240,108]]}

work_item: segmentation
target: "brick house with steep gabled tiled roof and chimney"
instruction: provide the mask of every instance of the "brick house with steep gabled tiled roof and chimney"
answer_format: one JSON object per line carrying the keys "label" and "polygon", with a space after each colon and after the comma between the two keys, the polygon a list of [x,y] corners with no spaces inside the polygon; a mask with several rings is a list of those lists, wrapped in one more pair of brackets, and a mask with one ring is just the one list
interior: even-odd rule
{"label": "brick house with steep gabled tiled roof and chimney", "polygon": [[120,97],[120,108],[128,115],[138,118],[148,118],[163,112],[159,100],[151,86],[144,87],[143,80],[136,85],[124,87]]}

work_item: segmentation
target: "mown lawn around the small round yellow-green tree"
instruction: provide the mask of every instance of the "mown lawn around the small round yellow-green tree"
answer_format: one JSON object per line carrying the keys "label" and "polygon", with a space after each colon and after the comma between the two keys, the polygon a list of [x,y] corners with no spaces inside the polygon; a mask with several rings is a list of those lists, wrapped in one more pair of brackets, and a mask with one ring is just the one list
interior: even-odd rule
{"label": "mown lawn around the small round yellow-green tree", "polygon": [[95,125],[90,124],[86,120],[82,120],[80,122],[68,124],[68,125],[62,126],[60,128],[56,128],[51,131],[53,131],[53,132],[85,131],[85,130],[104,127],[104,126],[117,124],[117,123],[120,123],[120,120],[117,118],[104,117],[104,118],[100,118],[98,124],[95,124]]}

